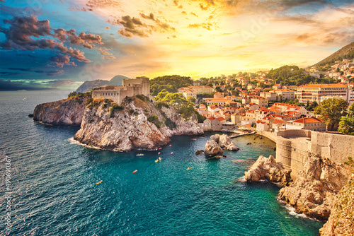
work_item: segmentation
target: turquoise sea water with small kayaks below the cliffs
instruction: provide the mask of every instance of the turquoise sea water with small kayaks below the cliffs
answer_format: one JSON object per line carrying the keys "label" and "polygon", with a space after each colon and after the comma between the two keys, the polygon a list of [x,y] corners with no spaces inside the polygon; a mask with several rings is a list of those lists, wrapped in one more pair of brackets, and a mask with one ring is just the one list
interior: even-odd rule
{"label": "turquoise sea water with small kayaks below the cliffs", "polygon": [[[161,155],[98,151],[73,143],[79,128],[27,117],[38,103],[66,94],[0,93],[0,235],[317,235],[321,228],[290,214],[273,184],[237,181],[259,155],[275,155],[267,138],[234,138],[241,151],[219,160],[194,154],[210,134],[175,136]],[[11,231],[5,155],[12,167]]]}

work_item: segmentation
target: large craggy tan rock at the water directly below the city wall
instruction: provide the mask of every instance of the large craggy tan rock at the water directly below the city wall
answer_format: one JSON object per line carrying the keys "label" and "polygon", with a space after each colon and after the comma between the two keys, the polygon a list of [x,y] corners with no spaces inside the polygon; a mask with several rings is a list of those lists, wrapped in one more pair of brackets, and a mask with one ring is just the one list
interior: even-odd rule
{"label": "large craggy tan rock at the water directly below the city wall", "polygon": [[280,189],[279,197],[295,207],[297,213],[327,220],[336,194],[346,184],[347,176],[343,165],[309,156],[295,182]]}

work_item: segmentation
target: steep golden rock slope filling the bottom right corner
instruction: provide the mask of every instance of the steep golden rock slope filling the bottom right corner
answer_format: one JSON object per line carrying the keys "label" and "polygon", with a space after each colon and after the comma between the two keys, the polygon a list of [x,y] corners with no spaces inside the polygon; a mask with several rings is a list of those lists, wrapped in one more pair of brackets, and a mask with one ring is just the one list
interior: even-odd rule
{"label": "steep golden rock slope filling the bottom right corner", "polygon": [[324,236],[354,235],[354,175],[338,192],[331,216],[319,232]]}

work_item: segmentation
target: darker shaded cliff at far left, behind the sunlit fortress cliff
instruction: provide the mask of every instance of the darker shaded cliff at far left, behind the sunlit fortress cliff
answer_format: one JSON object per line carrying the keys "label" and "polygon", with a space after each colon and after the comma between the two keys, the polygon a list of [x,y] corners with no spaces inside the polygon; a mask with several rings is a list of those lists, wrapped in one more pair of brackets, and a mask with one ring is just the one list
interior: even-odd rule
{"label": "darker shaded cliff at far left, behind the sunlit fortress cliff", "polygon": [[79,126],[87,99],[87,97],[76,97],[42,103],[35,107],[33,120],[46,124]]}

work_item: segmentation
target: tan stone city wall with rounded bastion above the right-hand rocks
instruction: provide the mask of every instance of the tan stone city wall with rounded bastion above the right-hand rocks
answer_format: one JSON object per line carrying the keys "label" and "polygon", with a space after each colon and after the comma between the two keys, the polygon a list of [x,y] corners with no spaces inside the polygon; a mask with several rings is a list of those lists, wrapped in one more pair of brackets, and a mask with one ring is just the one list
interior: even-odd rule
{"label": "tan stone city wall with rounded bastion above the right-hand rocks", "polygon": [[276,143],[276,160],[291,168],[293,178],[296,178],[309,155],[319,155],[336,164],[343,164],[348,157],[354,157],[354,136],[287,130],[277,133]]}

